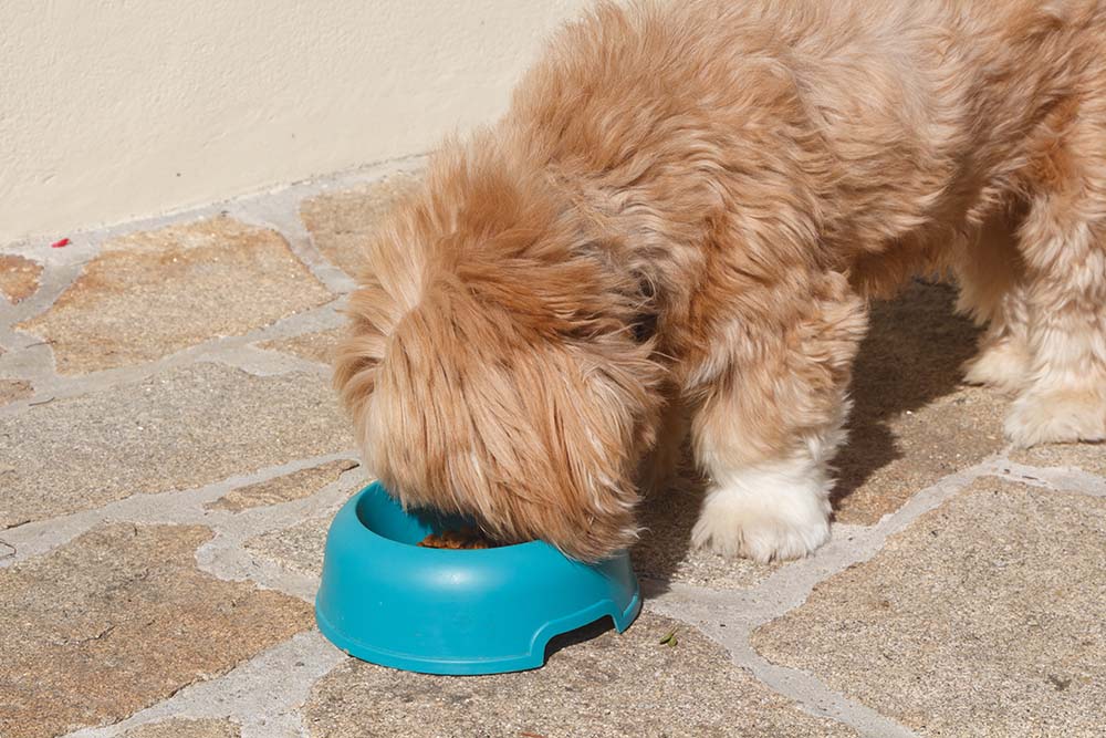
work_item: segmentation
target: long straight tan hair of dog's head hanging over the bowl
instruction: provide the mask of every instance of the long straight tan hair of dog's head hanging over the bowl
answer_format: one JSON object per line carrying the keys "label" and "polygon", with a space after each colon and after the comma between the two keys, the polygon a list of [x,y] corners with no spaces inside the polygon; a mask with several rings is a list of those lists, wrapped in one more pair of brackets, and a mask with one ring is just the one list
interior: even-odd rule
{"label": "long straight tan hair of dog's head hanging over the bowl", "polygon": [[406,503],[472,516],[505,541],[583,560],[629,545],[658,409],[648,353],[625,333],[523,345],[469,326],[446,346],[435,320],[414,315],[393,337],[367,414],[371,468]]}

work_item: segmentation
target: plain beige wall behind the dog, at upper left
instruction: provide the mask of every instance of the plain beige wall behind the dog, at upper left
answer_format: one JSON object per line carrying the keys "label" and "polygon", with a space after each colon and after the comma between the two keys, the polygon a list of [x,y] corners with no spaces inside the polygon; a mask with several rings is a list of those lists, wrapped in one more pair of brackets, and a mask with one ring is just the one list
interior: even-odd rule
{"label": "plain beige wall behind the dog, at upper left", "polygon": [[0,0],[0,242],[425,152],[582,0]]}

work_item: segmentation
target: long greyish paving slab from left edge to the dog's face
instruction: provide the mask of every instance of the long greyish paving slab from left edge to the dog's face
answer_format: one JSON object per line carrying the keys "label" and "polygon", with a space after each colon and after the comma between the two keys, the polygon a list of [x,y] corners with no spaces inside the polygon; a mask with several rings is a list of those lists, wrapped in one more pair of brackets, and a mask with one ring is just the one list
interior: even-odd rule
{"label": "long greyish paving slab from left edge to the dog's face", "polygon": [[354,445],[327,382],[196,364],[0,416],[0,529]]}

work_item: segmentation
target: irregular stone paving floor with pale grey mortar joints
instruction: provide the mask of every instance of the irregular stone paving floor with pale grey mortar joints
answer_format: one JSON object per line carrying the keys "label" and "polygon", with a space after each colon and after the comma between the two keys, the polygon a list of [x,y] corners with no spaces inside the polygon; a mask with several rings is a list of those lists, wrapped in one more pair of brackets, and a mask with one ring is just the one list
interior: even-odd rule
{"label": "irregular stone paving floor with pale grey mortar joints", "polygon": [[688,551],[687,480],[646,505],[623,635],[488,677],[328,645],[323,537],[365,477],[326,362],[419,164],[0,248],[0,736],[1106,735],[1106,449],[1009,451],[921,282],[875,308],[817,555]]}

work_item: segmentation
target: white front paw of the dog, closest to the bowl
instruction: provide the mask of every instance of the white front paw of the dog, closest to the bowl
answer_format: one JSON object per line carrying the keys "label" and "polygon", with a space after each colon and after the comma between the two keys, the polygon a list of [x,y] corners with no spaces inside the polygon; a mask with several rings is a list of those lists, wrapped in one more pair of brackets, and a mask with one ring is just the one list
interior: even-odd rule
{"label": "white front paw of the dog, closest to the bowl", "polygon": [[[781,466],[786,466],[786,462]],[[768,562],[801,559],[830,540],[831,484],[805,465],[752,469],[710,490],[691,531],[697,547]]]}

